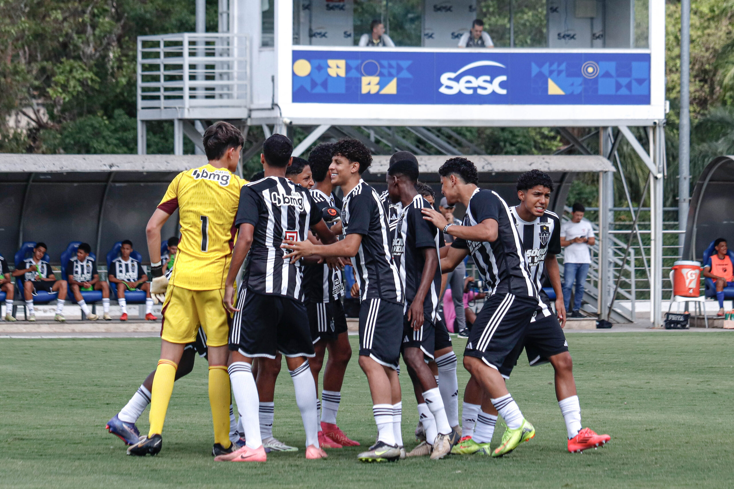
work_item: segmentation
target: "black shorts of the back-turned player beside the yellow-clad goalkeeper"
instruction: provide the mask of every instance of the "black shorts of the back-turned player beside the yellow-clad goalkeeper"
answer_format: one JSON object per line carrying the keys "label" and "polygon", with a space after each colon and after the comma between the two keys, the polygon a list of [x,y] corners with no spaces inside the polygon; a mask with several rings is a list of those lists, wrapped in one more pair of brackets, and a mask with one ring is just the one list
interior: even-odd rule
{"label": "black shorts of the back-turned player beside the yellow-clad goalkeeper", "polygon": [[313,356],[308,313],[301,301],[266,295],[244,287],[230,328],[229,348],[250,358]]}

